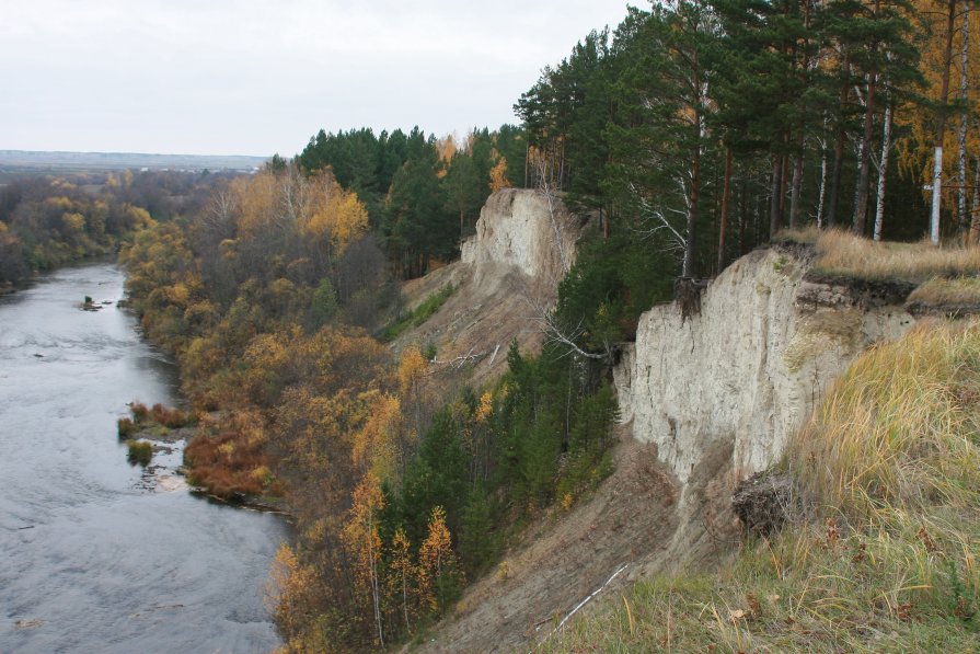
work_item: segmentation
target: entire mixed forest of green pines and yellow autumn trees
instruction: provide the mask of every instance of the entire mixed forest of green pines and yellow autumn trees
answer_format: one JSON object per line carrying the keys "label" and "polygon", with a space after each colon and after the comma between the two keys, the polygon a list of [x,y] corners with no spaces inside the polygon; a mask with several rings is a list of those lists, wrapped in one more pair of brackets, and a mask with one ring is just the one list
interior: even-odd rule
{"label": "entire mixed forest of green pines and yellow autumn trees", "polygon": [[[180,206],[131,174],[5,187],[0,279],[125,240],[132,307],[198,414],[193,482],[296,518],[286,651],[387,647],[609,473],[602,351],[642,311],[783,229],[977,245],[976,22],[934,0],[631,8],[542,70],[519,126],[321,129]],[[552,317],[574,347],[511,347],[497,382],[440,397],[427,344],[384,343],[399,283],[458,256],[507,186],[588,218]]]}

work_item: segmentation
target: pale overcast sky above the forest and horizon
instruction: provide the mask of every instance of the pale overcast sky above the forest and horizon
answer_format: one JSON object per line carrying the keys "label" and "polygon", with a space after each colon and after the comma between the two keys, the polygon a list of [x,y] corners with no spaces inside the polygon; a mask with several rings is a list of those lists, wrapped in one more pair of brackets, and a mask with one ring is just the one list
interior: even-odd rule
{"label": "pale overcast sky above the forest and horizon", "polygon": [[626,13],[625,0],[2,4],[0,150],[260,156],[295,154],[321,127],[516,123],[541,68]]}

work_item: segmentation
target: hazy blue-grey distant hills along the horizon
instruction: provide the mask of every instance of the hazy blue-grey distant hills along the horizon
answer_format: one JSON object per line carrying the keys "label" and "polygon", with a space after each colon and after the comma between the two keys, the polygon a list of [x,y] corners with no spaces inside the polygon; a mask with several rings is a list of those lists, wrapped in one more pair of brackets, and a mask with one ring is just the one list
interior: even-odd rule
{"label": "hazy blue-grey distant hills along the horizon", "polygon": [[0,150],[0,173],[85,172],[130,169],[251,172],[268,158],[239,154],[143,154],[138,152],[39,152]]}

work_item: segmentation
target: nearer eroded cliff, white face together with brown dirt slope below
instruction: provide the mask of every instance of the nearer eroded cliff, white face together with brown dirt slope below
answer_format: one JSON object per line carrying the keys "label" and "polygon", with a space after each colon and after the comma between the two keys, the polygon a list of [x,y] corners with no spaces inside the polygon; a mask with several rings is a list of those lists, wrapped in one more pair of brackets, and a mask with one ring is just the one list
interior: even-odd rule
{"label": "nearer eroded cliff, white face together with brown dirt slope below", "polygon": [[644,314],[614,371],[627,421],[615,472],[530,529],[419,651],[528,651],[624,565],[603,593],[734,551],[736,483],[777,456],[853,357],[914,321],[900,301],[808,278],[811,263],[806,249],[760,250],[711,284],[700,315]]}

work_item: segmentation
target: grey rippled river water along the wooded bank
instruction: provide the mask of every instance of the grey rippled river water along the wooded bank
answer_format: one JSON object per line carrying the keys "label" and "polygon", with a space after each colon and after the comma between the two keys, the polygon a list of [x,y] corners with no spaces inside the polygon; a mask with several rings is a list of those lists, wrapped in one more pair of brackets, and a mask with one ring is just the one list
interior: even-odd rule
{"label": "grey rippled river water along the wooded bank", "polygon": [[0,298],[0,652],[268,652],[286,527],[189,494],[178,449],[127,463],[127,402],[176,390],[122,297],[95,264]]}

